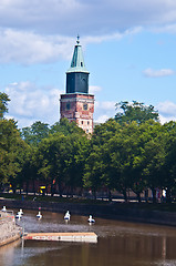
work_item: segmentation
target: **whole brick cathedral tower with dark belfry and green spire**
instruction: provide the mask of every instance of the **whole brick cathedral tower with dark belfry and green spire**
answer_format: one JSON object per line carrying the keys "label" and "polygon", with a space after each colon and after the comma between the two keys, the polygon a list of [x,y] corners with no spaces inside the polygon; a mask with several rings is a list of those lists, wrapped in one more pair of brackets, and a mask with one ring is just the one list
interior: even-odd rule
{"label": "whole brick cathedral tower with dark belfry and green spire", "polygon": [[89,94],[89,74],[77,37],[70,69],[66,71],[66,93],[60,99],[61,119],[66,117],[86,133],[93,133],[94,95]]}

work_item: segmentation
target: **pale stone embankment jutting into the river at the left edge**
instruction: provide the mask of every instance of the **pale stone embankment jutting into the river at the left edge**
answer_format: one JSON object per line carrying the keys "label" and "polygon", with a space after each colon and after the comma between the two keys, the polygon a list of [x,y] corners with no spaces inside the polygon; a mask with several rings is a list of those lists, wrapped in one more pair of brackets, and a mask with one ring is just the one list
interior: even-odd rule
{"label": "pale stone embankment jutting into the river at the left edge", "polygon": [[12,214],[0,212],[0,246],[21,237],[21,228],[15,225]]}

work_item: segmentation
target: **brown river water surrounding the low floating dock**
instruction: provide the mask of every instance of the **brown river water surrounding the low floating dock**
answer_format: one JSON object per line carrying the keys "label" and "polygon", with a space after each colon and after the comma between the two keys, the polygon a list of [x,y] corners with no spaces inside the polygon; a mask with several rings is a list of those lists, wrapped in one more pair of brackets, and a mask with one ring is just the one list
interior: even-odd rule
{"label": "brown river water surrounding the low floating dock", "polygon": [[176,265],[174,227],[134,224],[95,217],[24,211],[18,222],[25,232],[95,232],[97,243],[18,241],[0,248],[0,266],[173,266]]}

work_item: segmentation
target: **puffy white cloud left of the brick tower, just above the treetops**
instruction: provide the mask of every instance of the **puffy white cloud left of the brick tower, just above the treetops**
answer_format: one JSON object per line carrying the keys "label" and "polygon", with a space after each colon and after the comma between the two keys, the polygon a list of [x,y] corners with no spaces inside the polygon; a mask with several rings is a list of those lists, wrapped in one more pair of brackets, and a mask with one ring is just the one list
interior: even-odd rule
{"label": "puffy white cloud left of the brick tower, just above the treetops", "polygon": [[9,84],[4,92],[11,99],[8,116],[13,116],[19,127],[28,126],[38,120],[49,124],[59,121],[59,99],[63,93],[59,89],[37,88],[27,81]]}

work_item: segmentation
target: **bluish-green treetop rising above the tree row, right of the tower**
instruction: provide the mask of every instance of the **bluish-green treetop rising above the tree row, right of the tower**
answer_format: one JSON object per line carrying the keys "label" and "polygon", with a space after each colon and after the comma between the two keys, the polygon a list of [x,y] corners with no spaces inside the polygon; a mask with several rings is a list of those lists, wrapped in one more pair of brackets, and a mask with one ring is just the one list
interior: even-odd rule
{"label": "bluish-green treetop rising above the tree row, right of the tower", "polygon": [[118,123],[130,123],[136,121],[137,124],[144,123],[147,120],[158,121],[158,112],[153,105],[144,105],[144,103],[133,101],[118,102],[115,104],[116,110],[122,110],[115,114],[115,121]]}

